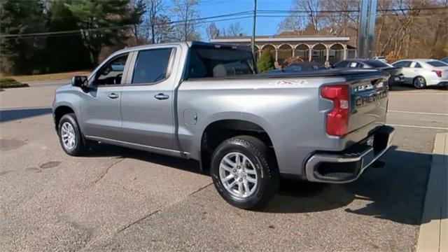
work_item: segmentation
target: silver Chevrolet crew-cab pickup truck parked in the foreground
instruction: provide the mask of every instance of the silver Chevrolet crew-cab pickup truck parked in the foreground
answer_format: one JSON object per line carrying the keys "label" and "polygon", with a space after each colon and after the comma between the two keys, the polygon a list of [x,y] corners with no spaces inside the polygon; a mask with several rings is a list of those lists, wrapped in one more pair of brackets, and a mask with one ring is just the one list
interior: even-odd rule
{"label": "silver Chevrolet crew-cab pickup truck parked in the foreground", "polygon": [[235,207],[261,207],[281,176],[347,183],[391,145],[388,74],[318,70],[259,74],[248,48],[169,43],[113,53],[59,87],[60,144],[93,142],[199,160]]}

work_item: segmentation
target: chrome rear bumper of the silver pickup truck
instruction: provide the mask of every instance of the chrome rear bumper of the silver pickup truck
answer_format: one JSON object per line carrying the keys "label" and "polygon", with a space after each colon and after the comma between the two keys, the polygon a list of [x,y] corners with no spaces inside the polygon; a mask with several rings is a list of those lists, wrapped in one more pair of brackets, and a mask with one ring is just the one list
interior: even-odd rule
{"label": "chrome rear bumper of the silver pickup truck", "polygon": [[355,181],[365,168],[372,165],[391,147],[393,132],[393,127],[384,126],[345,151],[315,153],[305,165],[307,180],[324,183]]}

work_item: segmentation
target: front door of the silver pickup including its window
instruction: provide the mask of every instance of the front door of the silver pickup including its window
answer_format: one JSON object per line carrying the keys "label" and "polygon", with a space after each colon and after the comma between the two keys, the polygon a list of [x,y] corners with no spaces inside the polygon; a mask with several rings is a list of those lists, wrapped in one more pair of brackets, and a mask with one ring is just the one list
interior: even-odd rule
{"label": "front door of the silver pickup including its window", "polygon": [[[83,133],[87,137],[118,140],[121,133],[120,96],[129,53],[113,57],[89,80],[80,101]],[[123,80],[124,81],[124,80]]]}

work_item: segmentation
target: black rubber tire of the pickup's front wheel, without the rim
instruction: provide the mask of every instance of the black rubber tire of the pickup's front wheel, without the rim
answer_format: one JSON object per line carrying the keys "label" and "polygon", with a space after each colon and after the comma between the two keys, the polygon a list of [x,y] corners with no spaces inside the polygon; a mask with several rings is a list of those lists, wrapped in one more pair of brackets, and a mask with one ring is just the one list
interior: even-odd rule
{"label": "black rubber tire of the pickup's front wheel, without the rim", "polygon": [[[69,125],[73,127],[74,139],[75,139],[73,148],[68,148],[67,146],[64,145],[64,140],[62,138],[62,125],[64,125],[64,123],[69,123]],[[74,113],[67,113],[64,116],[62,116],[61,120],[59,120],[59,125],[57,125],[57,135],[59,137],[59,144],[61,144],[62,149],[65,151],[65,153],[73,156],[78,156],[83,155],[87,152],[88,148],[85,145],[85,141],[80,132],[78,122],[76,121],[76,116]]]}

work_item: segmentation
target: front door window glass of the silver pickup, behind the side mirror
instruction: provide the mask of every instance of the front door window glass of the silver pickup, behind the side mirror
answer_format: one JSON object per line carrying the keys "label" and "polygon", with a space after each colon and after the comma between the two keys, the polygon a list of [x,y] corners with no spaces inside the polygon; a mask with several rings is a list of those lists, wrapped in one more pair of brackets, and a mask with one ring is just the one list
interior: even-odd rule
{"label": "front door window glass of the silver pickup, behind the side mirror", "polygon": [[96,85],[119,85],[125,71],[128,54],[117,56],[107,62],[99,71],[95,79]]}

